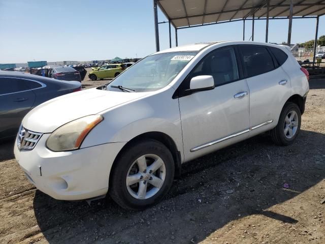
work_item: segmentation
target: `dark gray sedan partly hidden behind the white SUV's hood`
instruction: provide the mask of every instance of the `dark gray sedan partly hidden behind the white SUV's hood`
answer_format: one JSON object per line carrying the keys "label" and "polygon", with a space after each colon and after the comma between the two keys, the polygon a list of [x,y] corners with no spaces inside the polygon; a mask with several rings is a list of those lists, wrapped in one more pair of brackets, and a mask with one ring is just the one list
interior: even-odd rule
{"label": "dark gray sedan partly hidden behind the white SUV's hood", "polygon": [[66,82],[12,71],[0,71],[0,139],[17,134],[22,118],[37,105],[81,89]]}

